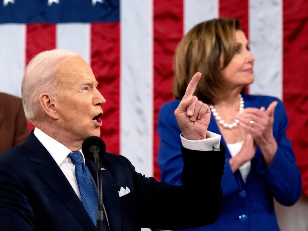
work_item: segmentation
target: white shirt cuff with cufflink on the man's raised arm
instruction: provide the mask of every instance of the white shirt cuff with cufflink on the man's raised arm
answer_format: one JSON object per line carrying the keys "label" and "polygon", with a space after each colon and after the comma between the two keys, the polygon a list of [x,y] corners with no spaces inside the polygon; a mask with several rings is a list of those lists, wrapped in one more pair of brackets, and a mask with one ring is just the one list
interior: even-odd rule
{"label": "white shirt cuff with cufflink on the man's raised arm", "polygon": [[184,148],[195,151],[220,151],[219,144],[221,135],[214,132],[206,131],[206,139],[204,140],[186,140],[183,133],[180,135],[181,142]]}

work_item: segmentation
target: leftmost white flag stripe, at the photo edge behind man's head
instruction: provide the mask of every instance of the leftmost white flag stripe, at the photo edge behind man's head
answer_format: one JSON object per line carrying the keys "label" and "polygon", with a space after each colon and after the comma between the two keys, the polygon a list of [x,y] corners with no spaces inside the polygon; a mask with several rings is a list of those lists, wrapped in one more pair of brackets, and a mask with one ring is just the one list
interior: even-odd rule
{"label": "leftmost white flag stripe, at the photo edge behind man's head", "polygon": [[25,68],[24,24],[0,24],[0,91],[21,97],[21,80]]}

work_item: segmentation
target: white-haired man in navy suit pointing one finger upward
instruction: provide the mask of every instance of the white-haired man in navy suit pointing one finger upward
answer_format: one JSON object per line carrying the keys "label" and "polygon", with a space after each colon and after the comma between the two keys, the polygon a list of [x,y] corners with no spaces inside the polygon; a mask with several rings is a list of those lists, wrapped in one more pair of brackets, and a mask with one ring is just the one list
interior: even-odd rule
{"label": "white-haired man in navy suit pointing one finger upward", "polygon": [[[220,136],[207,131],[208,105],[193,96],[200,76],[193,76],[175,111],[183,132],[183,186],[142,176],[125,157],[105,153],[104,230],[184,229],[216,221],[225,150]],[[41,52],[26,67],[22,102],[35,129],[0,156],[0,230],[97,229],[95,163],[81,150],[87,137],[100,136],[106,100],[97,84],[91,67],[72,51]]]}

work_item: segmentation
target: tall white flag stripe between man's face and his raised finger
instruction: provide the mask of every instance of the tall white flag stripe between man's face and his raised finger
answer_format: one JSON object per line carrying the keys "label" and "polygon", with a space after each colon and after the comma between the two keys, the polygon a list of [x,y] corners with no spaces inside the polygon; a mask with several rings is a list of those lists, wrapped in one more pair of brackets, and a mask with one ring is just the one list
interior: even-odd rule
{"label": "tall white flag stripe between man's face and his raised finger", "polygon": [[120,1],[121,147],[136,171],[153,175],[152,1]]}

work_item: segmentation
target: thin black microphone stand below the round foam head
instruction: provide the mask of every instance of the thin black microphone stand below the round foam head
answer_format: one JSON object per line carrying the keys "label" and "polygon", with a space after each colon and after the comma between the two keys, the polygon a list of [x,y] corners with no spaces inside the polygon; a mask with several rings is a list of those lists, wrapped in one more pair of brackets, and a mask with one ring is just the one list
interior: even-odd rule
{"label": "thin black microphone stand below the round foam head", "polygon": [[97,150],[93,152],[96,165],[96,174],[97,174],[97,196],[98,196],[98,211],[96,226],[98,231],[103,231],[103,221],[104,221],[104,209],[103,209],[103,184],[100,170],[100,160]]}

